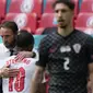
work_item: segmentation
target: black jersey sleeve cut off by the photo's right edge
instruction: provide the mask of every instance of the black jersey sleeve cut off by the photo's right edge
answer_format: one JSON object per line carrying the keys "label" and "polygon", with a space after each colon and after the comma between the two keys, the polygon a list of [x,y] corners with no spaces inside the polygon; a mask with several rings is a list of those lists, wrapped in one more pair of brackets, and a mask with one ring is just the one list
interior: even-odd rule
{"label": "black jersey sleeve cut off by the photo's right edge", "polygon": [[88,48],[88,60],[89,63],[93,62],[93,37],[89,37],[86,40],[86,48]]}

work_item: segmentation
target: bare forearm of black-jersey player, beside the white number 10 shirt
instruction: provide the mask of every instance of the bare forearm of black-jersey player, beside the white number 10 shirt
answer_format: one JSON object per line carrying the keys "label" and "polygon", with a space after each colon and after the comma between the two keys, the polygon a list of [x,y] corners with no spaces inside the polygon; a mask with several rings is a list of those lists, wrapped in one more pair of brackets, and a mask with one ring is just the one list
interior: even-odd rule
{"label": "bare forearm of black-jersey player, beside the white number 10 shirt", "polygon": [[43,81],[43,74],[44,74],[44,68],[36,66],[35,68],[35,73],[32,79],[32,86],[31,86],[31,92],[30,93],[36,93],[38,91],[38,86]]}

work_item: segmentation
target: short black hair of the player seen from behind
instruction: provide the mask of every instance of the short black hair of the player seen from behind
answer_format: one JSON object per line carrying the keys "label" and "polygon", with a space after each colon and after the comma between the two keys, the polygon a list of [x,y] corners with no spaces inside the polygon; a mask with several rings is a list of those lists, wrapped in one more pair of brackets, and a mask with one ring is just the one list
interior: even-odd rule
{"label": "short black hair of the player seen from behind", "polygon": [[16,46],[21,48],[26,48],[31,46],[31,48],[33,49],[34,46],[33,35],[28,33],[26,30],[19,31],[16,36]]}

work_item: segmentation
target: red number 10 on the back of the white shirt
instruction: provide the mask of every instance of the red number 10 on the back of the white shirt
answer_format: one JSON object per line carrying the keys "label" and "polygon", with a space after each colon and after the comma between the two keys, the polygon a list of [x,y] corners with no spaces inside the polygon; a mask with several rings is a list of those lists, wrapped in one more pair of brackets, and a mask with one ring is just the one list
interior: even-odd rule
{"label": "red number 10 on the back of the white shirt", "polygon": [[25,78],[25,70],[24,68],[21,67],[20,73],[16,75],[15,81],[14,78],[9,79],[9,92],[12,92],[13,89],[15,89],[16,92],[21,92],[24,89],[24,78]]}

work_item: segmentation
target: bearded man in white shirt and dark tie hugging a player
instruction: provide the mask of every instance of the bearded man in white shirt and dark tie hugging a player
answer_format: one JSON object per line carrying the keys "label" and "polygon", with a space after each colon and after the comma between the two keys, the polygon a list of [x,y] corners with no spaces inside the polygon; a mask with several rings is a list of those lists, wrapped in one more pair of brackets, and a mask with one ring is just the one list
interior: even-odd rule
{"label": "bearded man in white shirt and dark tie hugging a player", "polygon": [[[4,21],[2,22],[2,24],[0,24],[0,38],[2,38],[2,44],[0,44],[0,61],[2,61],[3,59],[14,54],[14,49],[16,46],[15,37],[19,33],[18,31],[19,31],[18,25],[13,21]],[[32,56],[34,56],[33,54],[34,53],[31,53],[31,51],[20,51],[19,56],[16,56],[16,59],[18,61],[21,61],[23,58],[26,58],[26,57],[31,58]],[[2,66],[2,62],[0,62],[0,67],[1,66]],[[13,74],[11,74],[11,72]],[[9,66],[4,66],[3,68],[0,68],[0,78],[15,77],[18,72],[19,72],[18,69],[9,69]],[[0,85],[1,85],[1,82],[0,82]]]}

